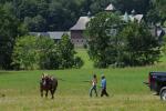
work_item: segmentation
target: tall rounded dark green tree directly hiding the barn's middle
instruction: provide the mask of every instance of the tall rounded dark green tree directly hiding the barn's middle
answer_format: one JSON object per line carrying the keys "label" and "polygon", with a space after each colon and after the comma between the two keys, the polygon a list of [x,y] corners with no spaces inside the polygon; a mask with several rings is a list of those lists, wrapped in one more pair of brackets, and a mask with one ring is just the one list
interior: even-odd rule
{"label": "tall rounded dark green tree directly hiding the barn's middle", "polygon": [[106,68],[117,59],[116,31],[121,30],[122,20],[118,16],[102,12],[91,19],[87,24],[89,54],[95,67]]}

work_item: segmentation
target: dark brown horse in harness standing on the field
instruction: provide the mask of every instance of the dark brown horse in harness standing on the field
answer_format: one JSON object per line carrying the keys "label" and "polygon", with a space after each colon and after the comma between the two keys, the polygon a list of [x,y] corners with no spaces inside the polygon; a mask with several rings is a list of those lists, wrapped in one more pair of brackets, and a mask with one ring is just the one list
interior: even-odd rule
{"label": "dark brown horse in harness standing on the field", "polygon": [[48,92],[51,92],[52,99],[54,98],[54,92],[58,88],[58,79],[49,75],[42,75],[42,79],[40,81],[40,92],[41,97],[43,97],[43,91],[45,91],[45,97],[48,97]]}

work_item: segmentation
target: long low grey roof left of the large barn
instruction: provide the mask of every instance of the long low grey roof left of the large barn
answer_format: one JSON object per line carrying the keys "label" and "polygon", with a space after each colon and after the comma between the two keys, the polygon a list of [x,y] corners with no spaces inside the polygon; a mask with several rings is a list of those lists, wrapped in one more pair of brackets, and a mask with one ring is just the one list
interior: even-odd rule
{"label": "long low grey roof left of the large barn", "polygon": [[54,39],[54,40],[61,39],[64,33],[68,33],[70,36],[70,32],[68,32],[68,31],[30,32],[31,36],[49,37],[49,38]]}

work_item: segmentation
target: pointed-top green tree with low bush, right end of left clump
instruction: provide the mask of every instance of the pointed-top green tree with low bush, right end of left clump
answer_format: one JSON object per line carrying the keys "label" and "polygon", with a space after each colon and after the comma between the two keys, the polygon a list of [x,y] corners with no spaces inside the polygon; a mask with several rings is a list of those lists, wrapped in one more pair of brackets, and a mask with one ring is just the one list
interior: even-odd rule
{"label": "pointed-top green tree with low bush, right end of left clump", "polygon": [[75,57],[74,44],[71,42],[69,34],[63,34],[58,43],[60,54],[60,69],[81,68],[84,62],[80,57]]}

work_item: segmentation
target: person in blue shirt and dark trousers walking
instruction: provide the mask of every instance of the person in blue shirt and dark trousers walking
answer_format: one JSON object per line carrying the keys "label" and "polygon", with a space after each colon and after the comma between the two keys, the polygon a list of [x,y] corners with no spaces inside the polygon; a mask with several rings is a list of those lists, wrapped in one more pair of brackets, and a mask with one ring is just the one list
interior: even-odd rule
{"label": "person in blue shirt and dark trousers walking", "polygon": [[103,97],[103,95],[108,97],[108,94],[106,92],[106,79],[105,79],[105,75],[102,75],[101,85],[102,85],[101,97]]}

